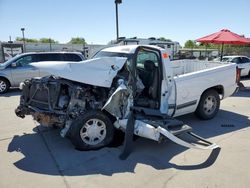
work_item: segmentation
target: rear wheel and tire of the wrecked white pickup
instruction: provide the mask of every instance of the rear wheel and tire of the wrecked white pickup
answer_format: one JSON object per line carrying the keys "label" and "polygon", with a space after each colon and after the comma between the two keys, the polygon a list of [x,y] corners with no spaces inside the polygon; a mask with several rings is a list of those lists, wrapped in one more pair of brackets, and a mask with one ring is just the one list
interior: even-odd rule
{"label": "rear wheel and tire of the wrecked white pickup", "polygon": [[205,91],[200,99],[195,114],[203,120],[212,119],[220,108],[220,96],[216,90]]}

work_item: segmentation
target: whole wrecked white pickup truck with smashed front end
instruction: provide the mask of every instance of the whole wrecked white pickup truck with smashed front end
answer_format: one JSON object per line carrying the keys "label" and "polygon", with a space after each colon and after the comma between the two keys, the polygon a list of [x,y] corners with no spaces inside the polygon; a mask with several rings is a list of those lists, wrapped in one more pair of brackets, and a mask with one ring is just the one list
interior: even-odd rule
{"label": "whole wrecked white pickup truck with smashed front end", "polygon": [[[217,148],[173,117],[195,112],[211,119],[220,99],[237,87],[235,64],[170,62],[164,49],[153,46],[116,46],[82,63],[37,66],[53,76],[20,85],[16,115],[32,115],[41,125],[62,128],[61,135],[81,150],[109,145],[115,129],[121,129],[123,158],[134,134],[159,142],[168,138],[190,148]],[[180,139],[180,134],[203,145]]]}

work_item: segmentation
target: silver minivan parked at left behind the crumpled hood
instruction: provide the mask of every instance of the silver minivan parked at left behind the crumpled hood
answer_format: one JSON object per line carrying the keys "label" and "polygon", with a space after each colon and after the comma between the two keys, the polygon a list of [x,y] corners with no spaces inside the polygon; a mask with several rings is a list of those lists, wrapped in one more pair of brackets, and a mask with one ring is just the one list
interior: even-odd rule
{"label": "silver minivan parked at left behind the crumpled hood", "polygon": [[29,78],[40,75],[39,69],[32,66],[41,61],[83,61],[86,58],[79,52],[33,52],[23,53],[0,64],[0,94],[8,91],[10,87]]}

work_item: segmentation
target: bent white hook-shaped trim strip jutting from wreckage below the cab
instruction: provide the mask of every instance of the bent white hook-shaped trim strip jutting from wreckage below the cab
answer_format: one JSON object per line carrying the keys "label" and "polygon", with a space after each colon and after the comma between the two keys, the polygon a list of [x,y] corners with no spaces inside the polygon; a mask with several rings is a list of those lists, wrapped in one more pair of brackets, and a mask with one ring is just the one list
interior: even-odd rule
{"label": "bent white hook-shaped trim strip jutting from wreckage below the cab", "polygon": [[192,133],[192,132],[186,132],[191,138],[195,138],[198,141],[202,141],[201,144],[195,144],[195,143],[189,143],[185,140],[180,139],[179,137],[175,136],[171,133],[171,131],[168,131],[161,126],[158,126],[156,130],[161,133],[163,136],[167,137],[169,140],[175,142],[176,144],[179,144],[181,146],[187,147],[187,148],[193,148],[193,149],[202,149],[202,150],[213,150],[216,148],[219,148],[219,146],[215,143],[211,143],[207,141],[206,139]]}

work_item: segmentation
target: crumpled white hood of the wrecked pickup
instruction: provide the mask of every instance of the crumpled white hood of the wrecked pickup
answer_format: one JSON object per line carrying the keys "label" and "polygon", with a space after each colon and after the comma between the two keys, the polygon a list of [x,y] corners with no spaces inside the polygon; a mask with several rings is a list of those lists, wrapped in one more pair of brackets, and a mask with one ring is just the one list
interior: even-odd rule
{"label": "crumpled white hood of the wrecked pickup", "polygon": [[123,67],[127,58],[102,57],[81,62],[40,62],[32,63],[40,72],[66,78],[85,84],[111,87],[113,78]]}

